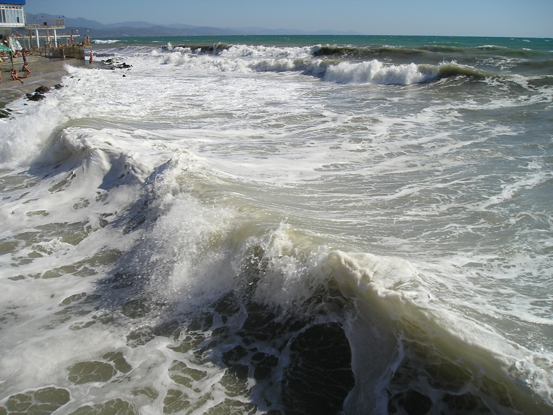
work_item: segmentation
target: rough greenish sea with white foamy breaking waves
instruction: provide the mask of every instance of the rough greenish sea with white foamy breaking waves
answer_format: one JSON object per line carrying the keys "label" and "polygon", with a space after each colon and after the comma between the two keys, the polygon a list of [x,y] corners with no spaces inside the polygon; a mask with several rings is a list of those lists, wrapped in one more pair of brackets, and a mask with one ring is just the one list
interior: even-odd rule
{"label": "rough greenish sea with white foamy breaking waves", "polygon": [[93,42],[0,120],[0,415],[553,414],[553,39]]}

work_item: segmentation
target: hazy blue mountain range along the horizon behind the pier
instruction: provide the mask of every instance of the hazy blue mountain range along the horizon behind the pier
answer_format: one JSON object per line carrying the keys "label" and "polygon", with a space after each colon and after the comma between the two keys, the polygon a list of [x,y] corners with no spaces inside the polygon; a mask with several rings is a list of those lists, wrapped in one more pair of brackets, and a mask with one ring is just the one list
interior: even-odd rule
{"label": "hazy blue mountain range along the horizon behind the pier", "polygon": [[[27,19],[58,19],[62,16],[56,14],[30,14]],[[102,24],[96,20],[88,20],[82,17],[71,19],[65,17],[66,29],[79,29],[81,34],[88,34],[93,38],[109,37],[140,37],[140,36],[194,36],[194,35],[354,35],[357,32],[339,32],[337,30],[317,30],[306,32],[304,30],[266,29],[261,27],[246,28],[216,28],[207,26],[191,26],[188,24],[153,24],[148,22],[123,22]]]}

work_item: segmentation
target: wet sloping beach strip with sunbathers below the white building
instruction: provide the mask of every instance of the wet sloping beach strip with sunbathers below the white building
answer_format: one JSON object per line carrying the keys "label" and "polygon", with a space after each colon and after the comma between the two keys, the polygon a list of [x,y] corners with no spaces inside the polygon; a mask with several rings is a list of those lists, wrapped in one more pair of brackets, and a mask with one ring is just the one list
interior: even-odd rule
{"label": "wet sloping beach strip with sunbathers below the white building", "polygon": [[[41,85],[53,87],[59,84],[62,77],[69,74],[65,69],[66,65],[87,68],[99,68],[101,63],[86,64],[84,60],[77,59],[61,59],[61,58],[44,58],[43,56],[27,56],[27,62],[31,76],[23,78],[24,84],[19,81],[13,81],[10,78],[9,71],[12,68],[10,61],[3,61],[2,66],[2,83],[0,84],[0,109],[5,108],[9,103],[24,97],[25,94],[33,94],[36,88]],[[21,74],[20,69],[23,66],[23,58],[14,58],[13,67]]]}

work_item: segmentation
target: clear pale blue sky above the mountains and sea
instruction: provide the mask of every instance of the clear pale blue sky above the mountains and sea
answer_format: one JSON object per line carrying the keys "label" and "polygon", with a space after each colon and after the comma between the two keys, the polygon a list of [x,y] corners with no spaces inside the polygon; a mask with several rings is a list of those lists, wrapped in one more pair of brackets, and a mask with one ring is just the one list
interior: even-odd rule
{"label": "clear pale blue sky above the mountains and sea", "polygon": [[553,0],[27,0],[25,10],[103,24],[553,38]]}

